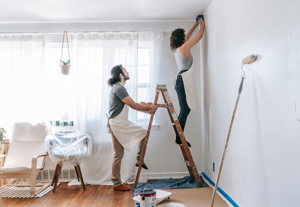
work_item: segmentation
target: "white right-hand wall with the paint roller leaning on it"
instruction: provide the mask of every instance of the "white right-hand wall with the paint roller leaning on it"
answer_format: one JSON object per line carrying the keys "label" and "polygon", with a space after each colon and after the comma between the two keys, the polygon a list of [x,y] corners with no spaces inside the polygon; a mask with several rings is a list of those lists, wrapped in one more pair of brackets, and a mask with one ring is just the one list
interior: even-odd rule
{"label": "white right-hand wall with the paint roller leaning on it", "polygon": [[[300,205],[300,1],[213,1],[200,45],[203,172],[240,206]],[[215,163],[213,172],[212,163]]]}

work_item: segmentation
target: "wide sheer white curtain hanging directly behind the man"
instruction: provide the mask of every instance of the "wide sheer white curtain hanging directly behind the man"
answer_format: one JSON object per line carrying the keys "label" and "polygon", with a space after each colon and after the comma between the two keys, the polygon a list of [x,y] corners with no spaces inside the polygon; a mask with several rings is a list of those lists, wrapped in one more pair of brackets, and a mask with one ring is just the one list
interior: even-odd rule
{"label": "wide sheer white curtain hanging directly behind the man", "polygon": [[[78,32],[70,35],[72,67],[76,68],[75,128],[92,137],[91,157],[83,161],[81,170],[88,184],[112,184],[113,148],[105,125],[110,87],[107,80],[110,70],[122,64],[129,72],[130,80],[125,88],[137,99],[137,48],[138,34],[129,32]],[[130,110],[129,120],[136,122],[136,112]],[[123,182],[131,176],[135,152],[125,151],[121,165]]]}

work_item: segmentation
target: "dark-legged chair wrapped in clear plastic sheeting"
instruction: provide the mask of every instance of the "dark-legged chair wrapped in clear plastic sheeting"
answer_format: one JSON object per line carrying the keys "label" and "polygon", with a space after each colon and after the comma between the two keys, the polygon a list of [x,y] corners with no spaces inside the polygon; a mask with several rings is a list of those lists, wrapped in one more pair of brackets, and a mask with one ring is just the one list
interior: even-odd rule
{"label": "dark-legged chair wrapped in clear plastic sheeting", "polygon": [[45,139],[45,145],[50,158],[57,163],[51,183],[51,185],[54,184],[53,193],[55,193],[64,163],[74,165],[78,182],[81,181],[82,187],[85,189],[79,163],[91,155],[91,137],[85,132],[73,130],[51,132]]}

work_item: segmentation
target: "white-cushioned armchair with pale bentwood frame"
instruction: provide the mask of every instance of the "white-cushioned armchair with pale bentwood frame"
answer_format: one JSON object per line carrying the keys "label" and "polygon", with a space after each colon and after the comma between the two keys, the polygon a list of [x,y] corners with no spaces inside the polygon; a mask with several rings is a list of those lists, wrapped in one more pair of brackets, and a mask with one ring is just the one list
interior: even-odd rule
{"label": "white-cushioned armchair with pale bentwood frame", "polygon": [[17,122],[13,126],[9,150],[3,167],[0,167],[0,178],[31,178],[30,185],[2,185],[6,186],[30,186],[30,194],[38,195],[45,190],[50,183],[35,190],[36,175],[44,169],[45,157],[48,155],[44,140],[48,134],[45,123],[32,125],[28,122]]}

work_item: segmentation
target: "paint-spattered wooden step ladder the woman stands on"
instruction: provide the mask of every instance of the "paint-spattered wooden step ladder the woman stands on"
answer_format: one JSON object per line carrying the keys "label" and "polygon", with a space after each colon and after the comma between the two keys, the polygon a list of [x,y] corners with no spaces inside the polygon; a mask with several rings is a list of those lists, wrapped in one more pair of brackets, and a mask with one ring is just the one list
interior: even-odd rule
{"label": "paint-spattered wooden step ladder the woman stands on", "polygon": [[[184,162],[187,165],[187,169],[190,172],[190,176],[191,176],[191,178],[196,180],[197,185],[199,187],[203,187],[202,182],[201,182],[200,177],[199,177],[199,174],[198,174],[198,171],[197,171],[197,168],[195,166],[193,157],[190,154],[190,149],[188,148],[187,142],[184,138],[184,134],[182,132],[180,123],[178,121],[178,118],[177,118],[177,115],[176,115],[176,112],[175,112],[175,109],[174,109],[174,106],[173,106],[173,103],[172,103],[172,100],[170,98],[170,95],[169,95],[169,92],[167,90],[166,85],[157,85],[154,102],[157,102],[159,92],[161,92],[161,94],[164,98],[165,104],[156,104],[156,105],[158,107],[167,108],[170,119],[171,119],[171,122],[172,122],[172,125],[173,125],[173,128],[174,128],[174,131],[175,131],[175,134],[176,134],[176,131],[179,132],[179,137],[180,137],[180,140],[182,142],[182,144],[180,145],[180,149],[181,149],[183,157],[184,157]],[[145,106],[151,106],[152,105],[152,103],[145,103],[145,102],[141,102],[141,104],[145,105]],[[146,140],[145,140],[145,143],[144,143],[144,147],[143,147],[139,167],[137,169],[137,175],[135,177],[134,188],[137,188],[137,183],[139,181],[140,172],[141,172],[141,169],[142,169],[142,163],[143,163],[145,153],[146,153],[146,148],[147,148],[149,134],[150,134],[151,126],[152,126],[153,117],[154,117],[154,113],[151,114],[148,130],[147,130],[147,134],[146,134]]]}

